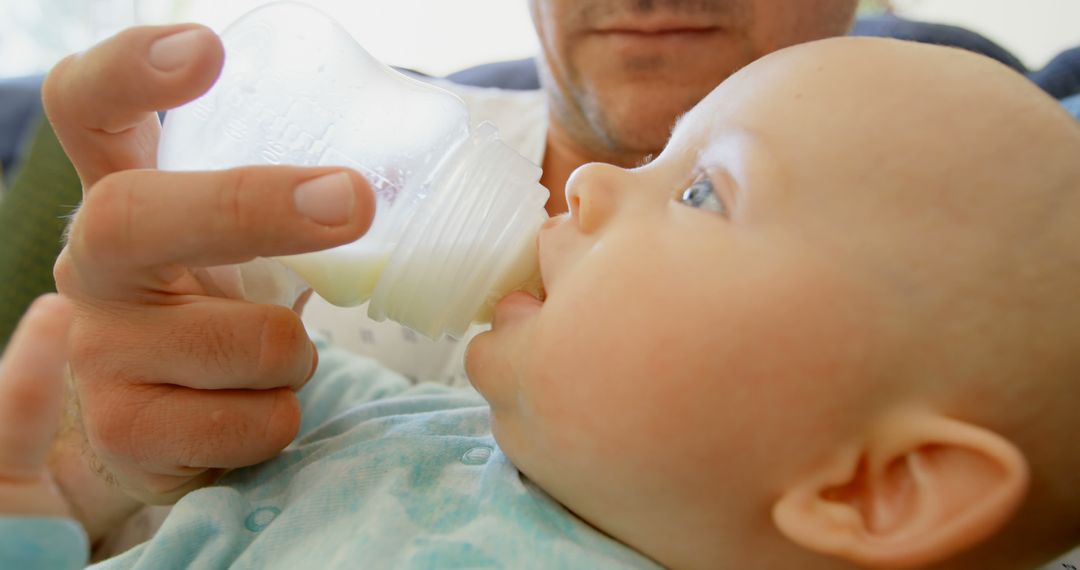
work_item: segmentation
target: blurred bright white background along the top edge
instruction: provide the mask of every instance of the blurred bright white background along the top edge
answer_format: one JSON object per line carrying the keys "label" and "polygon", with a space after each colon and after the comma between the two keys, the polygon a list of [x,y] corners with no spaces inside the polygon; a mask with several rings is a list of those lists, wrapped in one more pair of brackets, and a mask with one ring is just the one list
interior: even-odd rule
{"label": "blurred bright white background along the top edge", "polygon": [[[0,77],[38,73],[134,24],[200,22],[220,31],[268,0],[0,0]],[[798,1],[798,0],[793,0]],[[443,76],[537,51],[526,0],[308,0],[376,57]],[[1080,0],[892,0],[900,15],[967,27],[1037,69],[1080,45]]]}

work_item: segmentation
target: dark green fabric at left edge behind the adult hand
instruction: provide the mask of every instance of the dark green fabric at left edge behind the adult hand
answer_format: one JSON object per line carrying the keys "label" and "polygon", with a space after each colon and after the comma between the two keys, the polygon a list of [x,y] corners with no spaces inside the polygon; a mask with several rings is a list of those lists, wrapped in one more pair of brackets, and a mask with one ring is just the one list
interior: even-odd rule
{"label": "dark green fabric at left edge behind the adult hand", "polygon": [[26,160],[0,198],[0,349],[30,302],[56,290],[53,263],[67,217],[80,200],[79,176],[42,119]]}

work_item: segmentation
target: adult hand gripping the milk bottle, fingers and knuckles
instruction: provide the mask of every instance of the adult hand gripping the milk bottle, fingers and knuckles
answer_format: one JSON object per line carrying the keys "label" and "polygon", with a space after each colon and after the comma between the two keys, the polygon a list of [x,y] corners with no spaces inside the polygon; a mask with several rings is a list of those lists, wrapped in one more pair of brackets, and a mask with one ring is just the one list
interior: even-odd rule
{"label": "adult hand gripping the milk bottle, fingers and knuckles", "polygon": [[91,450],[129,494],[168,503],[295,436],[316,354],[296,312],[226,299],[200,268],[357,239],[352,171],[156,171],[154,111],[204,93],[222,46],[195,25],[125,30],[60,62],[45,111],[83,186],[55,268]]}

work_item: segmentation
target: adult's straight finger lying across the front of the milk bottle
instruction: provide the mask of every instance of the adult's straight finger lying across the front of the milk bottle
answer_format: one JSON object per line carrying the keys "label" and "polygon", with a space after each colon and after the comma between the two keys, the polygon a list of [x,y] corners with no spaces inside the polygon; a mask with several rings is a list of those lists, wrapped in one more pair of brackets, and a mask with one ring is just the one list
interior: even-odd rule
{"label": "adult's straight finger lying across the front of the milk bottle", "polygon": [[353,242],[374,213],[367,181],[337,167],[125,171],[87,195],[54,274],[75,298],[70,291],[127,299],[133,290],[172,290],[185,268]]}

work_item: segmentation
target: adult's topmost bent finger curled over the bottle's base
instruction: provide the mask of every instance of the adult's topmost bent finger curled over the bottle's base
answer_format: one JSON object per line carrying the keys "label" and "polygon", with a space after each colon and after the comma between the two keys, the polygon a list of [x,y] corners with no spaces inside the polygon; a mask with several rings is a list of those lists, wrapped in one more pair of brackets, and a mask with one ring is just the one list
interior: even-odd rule
{"label": "adult's topmost bent finger curled over the bottle's base", "polygon": [[83,188],[113,172],[154,167],[156,111],[205,93],[224,60],[213,31],[181,24],[130,28],[56,64],[42,101]]}

